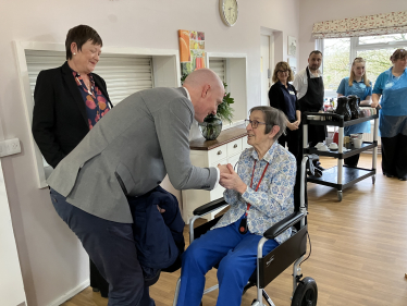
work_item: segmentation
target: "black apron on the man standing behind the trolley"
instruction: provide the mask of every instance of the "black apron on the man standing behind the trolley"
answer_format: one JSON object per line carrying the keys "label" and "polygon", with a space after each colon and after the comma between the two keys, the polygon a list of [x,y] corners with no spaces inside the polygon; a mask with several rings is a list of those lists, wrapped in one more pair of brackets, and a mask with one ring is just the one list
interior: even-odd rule
{"label": "black apron on the man standing behind the trolley", "polygon": [[[306,111],[318,112],[323,109],[324,93],[322,77],[311,78],[308,69],[306,69],[306,72],[308,81],[307,94],[298,100],[301,114]],[[326,135],[326,126],[308,125],[308,143],[310,147],[325,140]]]}

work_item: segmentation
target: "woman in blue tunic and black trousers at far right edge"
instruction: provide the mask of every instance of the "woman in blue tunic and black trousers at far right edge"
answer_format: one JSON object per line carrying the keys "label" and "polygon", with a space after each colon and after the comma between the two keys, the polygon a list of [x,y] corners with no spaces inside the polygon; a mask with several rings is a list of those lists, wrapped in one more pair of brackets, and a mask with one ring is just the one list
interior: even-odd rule
{"label": "woman in blue tunic and black trousers at far right edge", "polygon": [[380,106],[382,170],[387,178],[407,181],[407,51],[397,49],[390,58],[393,66],[374,84],[371,107]]}

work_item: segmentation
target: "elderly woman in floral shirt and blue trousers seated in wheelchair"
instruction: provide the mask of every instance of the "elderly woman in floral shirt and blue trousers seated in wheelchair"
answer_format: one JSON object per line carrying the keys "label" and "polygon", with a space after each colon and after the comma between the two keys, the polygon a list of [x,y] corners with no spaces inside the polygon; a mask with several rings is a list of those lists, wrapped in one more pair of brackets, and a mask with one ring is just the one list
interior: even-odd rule
{"label": "elderly woman in floral shirt and blue trousers seated in wheelchair", "polygon": [[[240,305],[242,294],[257,266],[258,243],[264,231],[294,211],[295,157],[278,143],[286,117],[271,107],[255,107],[247,124],[246,149],[237,173],[222,174],[224,199],[231,208],[183,255],[178,306],[199,306],[205,274],[219,264],[218,306]],[[286,241],[292,228],[263,244],[263,256]]]}

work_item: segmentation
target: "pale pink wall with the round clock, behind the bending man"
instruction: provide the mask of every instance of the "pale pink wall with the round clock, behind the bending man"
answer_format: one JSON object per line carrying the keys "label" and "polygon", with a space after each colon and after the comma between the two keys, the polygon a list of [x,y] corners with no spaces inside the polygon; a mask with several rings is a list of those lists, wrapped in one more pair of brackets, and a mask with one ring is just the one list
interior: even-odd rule
{"label": "pale pink wall with the round clock, behind the bending man", "polygon": [[203,30],[207,51],[247,53],[250,108],[260,103],[260,27],[282,32],[284,59],[286,37],[298,37],[298,2],[240,0],[237,24],[226,27],[218,0],[2,1],[0,121],[5,138],[22,145],[21,154],[2,158],[2,168],[29,306],[50,305],[85,282],[88,271],[78,241],[54,212],[48,191],[36,185],[12,40],[63,42],[67,29],[83,23],[98,30],[104,46],[177,49],[177,29]]}

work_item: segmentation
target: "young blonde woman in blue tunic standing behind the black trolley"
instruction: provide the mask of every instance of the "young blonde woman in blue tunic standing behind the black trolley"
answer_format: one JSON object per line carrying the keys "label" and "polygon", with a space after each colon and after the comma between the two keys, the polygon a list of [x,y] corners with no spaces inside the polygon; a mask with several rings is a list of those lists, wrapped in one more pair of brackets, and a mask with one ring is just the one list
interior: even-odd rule
{"label": "young blonde woman in blue tunic standing behind the black trolley", "polygon": [[[336,90],[337,97],[355,95],[360,98],[360,105],[370,105],[372,96],[372,83],[366,75],[366,61],[362,58],[356,58],[351,63],[350,76],[342,79]],[[345,126],[345,136],[356,133],[370,133],[370,122],[362,122],[351,126]],[[360,155],[354,155],[345,158],[344,163],[350,167],[357,167]]]}

